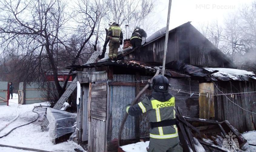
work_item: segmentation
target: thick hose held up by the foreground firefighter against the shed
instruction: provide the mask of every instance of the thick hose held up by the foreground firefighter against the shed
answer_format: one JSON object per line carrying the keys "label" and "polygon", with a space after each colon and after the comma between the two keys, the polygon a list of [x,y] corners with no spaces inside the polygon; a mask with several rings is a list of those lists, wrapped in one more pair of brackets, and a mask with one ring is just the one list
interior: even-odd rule
{"label": "thick hose held up by the foreground firefighter against the shed", "polygon": [[[149,84],[152,84],[153,79],[159,75],[159,69],[157,69],[155,75],[149,80],[149,83],[147,85],[145,85],[145,87],[138,93],[138,95],[135,97],[135,99],[131,102],[131,105],[134,105],[137,103],[138,99],[141,97],[141,95],[147,90],[147,88],[149,87]],[[121,146],[121,138],[122,138],[122,131],[124,129],[124,125],[126,122],[126,119],[128,117],[128,113],[125,113],[125,115],[123,116],[123,120],[121,123],[121,126],[119,128],[118,131],[118,146]]]}

